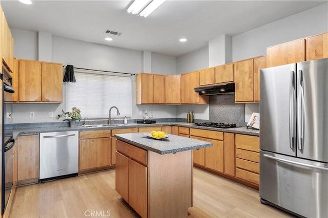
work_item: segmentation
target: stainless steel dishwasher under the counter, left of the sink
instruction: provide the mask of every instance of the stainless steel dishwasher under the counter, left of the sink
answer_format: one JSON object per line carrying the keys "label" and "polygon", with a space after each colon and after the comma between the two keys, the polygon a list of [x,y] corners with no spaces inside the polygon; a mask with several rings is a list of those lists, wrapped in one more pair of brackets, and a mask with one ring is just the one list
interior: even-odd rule
{"label": "stainless steel dishwasher under the counter, left of the sink", "polygon": [[76,176],[78,132],[40,133],[39,180]]}

